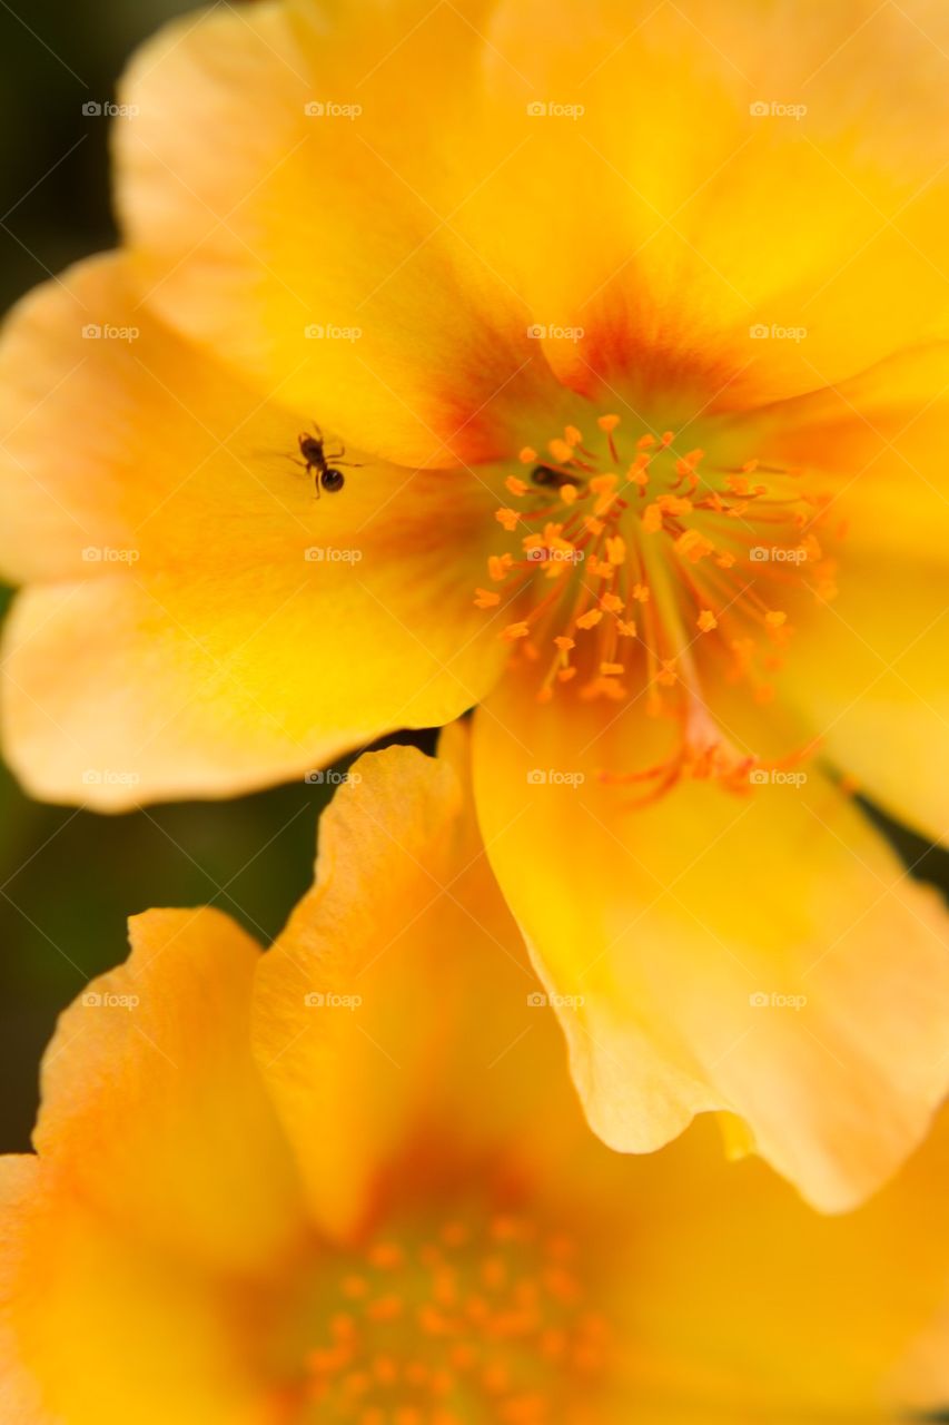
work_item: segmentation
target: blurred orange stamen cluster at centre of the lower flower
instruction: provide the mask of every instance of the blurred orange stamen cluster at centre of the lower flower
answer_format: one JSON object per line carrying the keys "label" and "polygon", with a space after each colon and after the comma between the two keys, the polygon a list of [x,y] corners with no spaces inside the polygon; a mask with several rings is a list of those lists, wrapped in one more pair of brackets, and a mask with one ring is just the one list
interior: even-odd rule
{"label": "blurred orange stamen cluster at centre of the lower flower", "polygon": [[551,1425],[571,1392],[590,1396],[608,1355],[573,1241],[510,1216],[409,1224],[322,1261],[311,1320],[305,1392],[319,1421]]}

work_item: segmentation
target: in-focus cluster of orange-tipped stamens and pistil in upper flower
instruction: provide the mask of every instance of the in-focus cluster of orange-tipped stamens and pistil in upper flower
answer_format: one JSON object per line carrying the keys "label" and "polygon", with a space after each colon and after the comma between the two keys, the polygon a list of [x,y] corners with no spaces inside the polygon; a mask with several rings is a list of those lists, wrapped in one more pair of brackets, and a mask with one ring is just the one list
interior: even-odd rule
{"label": "in-focus cluster of orange-tipped stamens and pistil in upper flower", "polygon": [[593,440],[567,426],[520,452],[496,512],[506,547],[474,603],[516,614],[500,637],[541,703],[641,698],[675,721],[673,758],[603,779],[643,782],[647,797],[681,775],[744,789],[752,768],[764,764],[721,731],[710,694],[735,684],[759,704],[774,697],[799,621],[836,591],[821,543],[831,494],[801,467],[731,459],[734,429],[712,459],[680,449],[673,430],[618,428],[604,415]]}

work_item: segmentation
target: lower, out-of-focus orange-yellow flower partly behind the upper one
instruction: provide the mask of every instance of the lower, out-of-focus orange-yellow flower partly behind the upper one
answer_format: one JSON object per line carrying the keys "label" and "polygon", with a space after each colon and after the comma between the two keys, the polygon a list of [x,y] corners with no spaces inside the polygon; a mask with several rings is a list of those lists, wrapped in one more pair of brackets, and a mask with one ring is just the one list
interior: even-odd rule
{"label": "lower, out-of-focus orange-yellow flower partly behind the upper one", "polygon": [[949,1121],[844,1220],[728,1166],[711,1120],[668,1153],[610,1153],[455,764],[358,764],[266,955],[217,911],[151,911],[66,1012],[37,1156],[0,1160],[4,1422],[945,1401]]}

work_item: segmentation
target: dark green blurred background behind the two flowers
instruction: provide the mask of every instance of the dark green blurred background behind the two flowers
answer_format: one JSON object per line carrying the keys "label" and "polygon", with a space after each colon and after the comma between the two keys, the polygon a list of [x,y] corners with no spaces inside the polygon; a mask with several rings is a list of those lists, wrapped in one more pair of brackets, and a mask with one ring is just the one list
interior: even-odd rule
{"label": "dark green blurred background behind the two flowers", "polygon": [[[130,53],[188,0],[0,0],[0,309],[113,247],[108,121]],[[10,590],[0,587],[0,614]],[[430,738],[412,738],[432,745]],[[125,919],[214,903],[266,943],[312,876],[325,787],[124,817],[28,801],[0,767],[0,1151],[28,1147],[37,1069],[58,1012],[125,955]],[[949,888],[949,856],[889,828],[916,875]]]}

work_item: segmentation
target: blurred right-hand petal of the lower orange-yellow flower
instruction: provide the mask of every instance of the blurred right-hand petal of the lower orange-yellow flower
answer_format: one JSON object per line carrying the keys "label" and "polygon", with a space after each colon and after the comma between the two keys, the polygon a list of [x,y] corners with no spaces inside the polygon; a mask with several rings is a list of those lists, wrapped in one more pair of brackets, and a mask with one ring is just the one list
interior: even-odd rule
{"label": "blurred right-hand petal of the lower orange-yellow flower", "polygon": [[[948,1170],[945,1112],[893,1183],[844,1218],[812,1213],[754,1159],[725,1163],[711,1123],[630,1161],[636,1227],[626,1240],[618,1228],[616,1257],[636,1281],[624,1321],[640,1409],[678,1401],[701,1419],[715,1401],[728,1419],[883,1421],[943,1406]],[[620,1190],[614,1180],[610,1196]],[[928,1372],[925,1341],[942,1345]]]}

